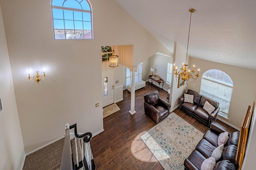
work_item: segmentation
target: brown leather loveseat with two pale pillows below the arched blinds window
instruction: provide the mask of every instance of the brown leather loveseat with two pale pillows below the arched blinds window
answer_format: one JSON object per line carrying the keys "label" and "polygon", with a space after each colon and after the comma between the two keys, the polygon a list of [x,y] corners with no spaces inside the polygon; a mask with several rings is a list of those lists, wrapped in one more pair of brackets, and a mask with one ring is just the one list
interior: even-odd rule
{"label": "brown leather loveseat with two pale pillows below the arched blinds window", "polygon": [[[184,102],[184,96],[179,98],[180,109],[187,113],[188,115],[194,117],[204,125],[210,127],[210,124],[216,120],[220,107],[218,107],[219,103],[215,102],[205,96],[202,96],[198,92],[193,90],[188,90],[186,94],[190,94],[194,96],[194,103]],[[208,101],[212,106],[215,107],[215,110],[212,113],[208,113],[203,109],[204,103]]]}

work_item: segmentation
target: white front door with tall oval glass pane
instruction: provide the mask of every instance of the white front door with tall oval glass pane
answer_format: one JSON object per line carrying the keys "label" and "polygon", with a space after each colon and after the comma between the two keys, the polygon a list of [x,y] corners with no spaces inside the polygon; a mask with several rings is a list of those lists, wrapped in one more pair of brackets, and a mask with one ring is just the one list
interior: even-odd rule
{"label": "white front door with tall oval glass pane", "polygon": [[103,107],[114,103],[114,69],[102,71]]}

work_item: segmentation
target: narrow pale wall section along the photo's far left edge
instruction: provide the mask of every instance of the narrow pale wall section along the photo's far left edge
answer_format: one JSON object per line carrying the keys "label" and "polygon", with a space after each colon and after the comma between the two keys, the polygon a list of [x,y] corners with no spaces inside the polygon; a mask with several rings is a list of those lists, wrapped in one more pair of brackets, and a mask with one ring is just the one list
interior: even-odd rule
{"label": "narrow pale wall section along the photo's far left edge", "polygon": [[20,170],[25,160],[25,152],[1,8],[0,30],[0,96],[3,106],[0,113],[0,170]]}

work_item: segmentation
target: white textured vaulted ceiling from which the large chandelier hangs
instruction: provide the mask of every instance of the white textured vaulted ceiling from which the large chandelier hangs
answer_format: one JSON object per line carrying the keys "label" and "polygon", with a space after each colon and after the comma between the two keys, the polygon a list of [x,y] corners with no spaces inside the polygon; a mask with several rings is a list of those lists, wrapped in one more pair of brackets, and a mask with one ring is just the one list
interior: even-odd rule
{"label": "white textured vaulted ceiling from which the large chandelier hangs", "polygon": [[256,70],[256,0],[115,0],[173,53]]}

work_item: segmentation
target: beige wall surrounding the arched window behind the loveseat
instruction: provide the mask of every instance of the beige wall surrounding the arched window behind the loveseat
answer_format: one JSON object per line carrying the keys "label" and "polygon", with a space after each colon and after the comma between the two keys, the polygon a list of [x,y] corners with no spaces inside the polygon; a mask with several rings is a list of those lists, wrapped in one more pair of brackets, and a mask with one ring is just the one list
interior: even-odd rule
{"label": "beige wall surrounding the arched window behind the loveseat", "polygon": [[223,119],[240,129],[247,106],[251,105],[253,101],[256,101],[256,79],[254,78],[256,70],[249,70],[194,58],[190,58],[190,63],[190,65],[196,64],[197,68],[200,68],[200,77],[196,80],[195,86],[194,83],[190,83],[187,88],[197,92],[200,92],[202,74],[207,70],[222,70],[230,76],[233,81],[234,88],[230,102],[228,119]]}

